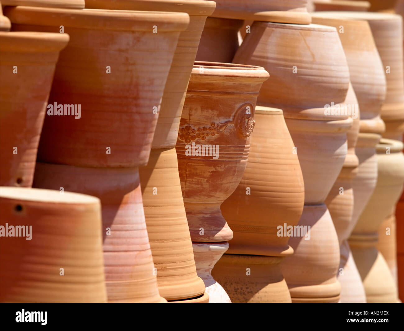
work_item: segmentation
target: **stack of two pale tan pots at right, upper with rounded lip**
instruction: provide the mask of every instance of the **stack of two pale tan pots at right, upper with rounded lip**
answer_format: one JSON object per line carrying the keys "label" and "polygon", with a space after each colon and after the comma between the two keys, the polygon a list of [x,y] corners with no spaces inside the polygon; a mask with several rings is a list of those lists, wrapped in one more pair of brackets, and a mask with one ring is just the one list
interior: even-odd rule
{"label": "stack of two pale tan pots at right, upper with rounded lip", "polygon": [[377,144],[377,185],[349,239],[368,302],[397,300],[396,284],[376,244],[379,227],[403,189],[402,150],[403,143],[400,141],[381,139]]}

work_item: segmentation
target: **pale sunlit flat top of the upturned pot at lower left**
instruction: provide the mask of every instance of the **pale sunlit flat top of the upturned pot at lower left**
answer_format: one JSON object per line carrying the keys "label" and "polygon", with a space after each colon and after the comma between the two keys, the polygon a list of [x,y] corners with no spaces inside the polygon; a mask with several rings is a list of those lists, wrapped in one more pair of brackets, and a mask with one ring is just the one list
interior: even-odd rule
{"label": "pale sunlit flat top of the upturned pot at lower left", "polygon": [[13,186],[0,186],[0,198],[16,201],[33,201],[40,203],[63,203],[69,205],[99,204],[101,200],[88,194],[63,192],[60,194],[56,190],[47,190],[42,188],[23,188]]}

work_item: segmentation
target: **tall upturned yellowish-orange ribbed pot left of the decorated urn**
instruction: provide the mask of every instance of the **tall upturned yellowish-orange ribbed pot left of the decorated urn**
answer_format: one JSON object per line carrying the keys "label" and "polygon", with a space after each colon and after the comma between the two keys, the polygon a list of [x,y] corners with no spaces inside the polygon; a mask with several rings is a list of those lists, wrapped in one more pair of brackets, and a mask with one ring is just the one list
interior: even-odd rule
{"label": "tall upturned yellowish-orange ribbed pot left of the decorated urn", "polygon": [[167,300],[197,297],[205,287],[196,274],[175,148],[152,149],[139,173],[160,295]]}

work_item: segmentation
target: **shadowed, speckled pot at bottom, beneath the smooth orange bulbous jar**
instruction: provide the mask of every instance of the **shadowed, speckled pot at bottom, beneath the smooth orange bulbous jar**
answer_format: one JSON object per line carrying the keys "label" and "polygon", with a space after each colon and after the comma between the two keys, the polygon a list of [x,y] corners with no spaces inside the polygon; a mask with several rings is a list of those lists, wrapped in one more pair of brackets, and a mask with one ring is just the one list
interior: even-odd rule
{"label": "shadowed, speckled pot at bottom, beneath the smooth orange bulbous jar", "polygon": [[224,254],[212,276],[233,303],[287,303],[288,287],[279,270],[283,257]]}

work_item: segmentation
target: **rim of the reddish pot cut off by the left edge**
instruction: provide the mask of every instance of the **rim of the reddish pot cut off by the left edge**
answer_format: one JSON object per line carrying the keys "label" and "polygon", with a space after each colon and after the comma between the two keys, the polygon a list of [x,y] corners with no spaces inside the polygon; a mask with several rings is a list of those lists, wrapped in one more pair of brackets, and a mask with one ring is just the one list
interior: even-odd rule
{"label": "rim of the reddish pot cut off by the left edge", "polygon": [[31,31],[0,31],[0,51],[11,53],[59,52],[69,42],[68,34]]}

